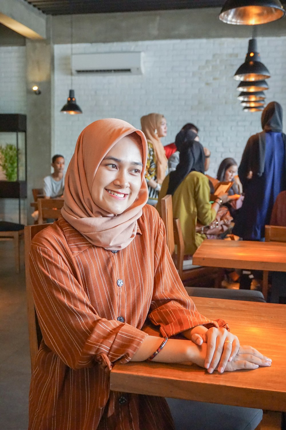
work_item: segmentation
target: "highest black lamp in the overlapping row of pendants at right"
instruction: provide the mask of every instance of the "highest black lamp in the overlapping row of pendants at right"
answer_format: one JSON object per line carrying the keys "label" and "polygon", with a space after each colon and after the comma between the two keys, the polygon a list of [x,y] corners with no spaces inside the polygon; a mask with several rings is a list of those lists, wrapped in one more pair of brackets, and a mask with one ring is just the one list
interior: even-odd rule
{"label": "highest black lamp in the overlapping row of pendants at right", "polygon": [[260,61],[256,39],[250,39],[245,61],[235,72],[234,79],[241,81],[257,81],[270,78],[268,68]]}

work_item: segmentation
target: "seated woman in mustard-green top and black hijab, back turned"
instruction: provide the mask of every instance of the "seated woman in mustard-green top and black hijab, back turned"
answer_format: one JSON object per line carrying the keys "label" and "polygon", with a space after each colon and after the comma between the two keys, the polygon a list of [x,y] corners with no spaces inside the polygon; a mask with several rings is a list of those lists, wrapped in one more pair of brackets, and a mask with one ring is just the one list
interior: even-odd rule
{"label": "seated woman in mustard-green top and black hijab, back turned", "polygon": [[205,235],[196,232],[197,221],[202,225],[211,224],[216,218],[222,203],[227,201],[227,194],[220,197],[211,205],[210,186],[204,175],[205,154],[202,145],[188,139],[186,132],[185,143],[180,152],[180,163],[162,184],[159,194],[160,202],[167,194],[172,195],[173,216],[179,218],[185,244],[185,254],[193,255],[205,239]]}

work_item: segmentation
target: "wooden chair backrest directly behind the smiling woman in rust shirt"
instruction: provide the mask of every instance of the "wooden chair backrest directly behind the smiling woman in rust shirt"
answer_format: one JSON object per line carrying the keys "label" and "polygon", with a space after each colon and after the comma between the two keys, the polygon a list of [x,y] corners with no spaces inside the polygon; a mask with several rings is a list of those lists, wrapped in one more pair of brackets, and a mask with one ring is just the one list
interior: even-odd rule
{"label": "wooden chair backrest directly behind the smiling woman in rust shirt", "polygon": [[24,228],[25,235],[25,270],[26,270],[26,290],[27,290],[27,307],[28,307],[28,329],[30,343],[31,370],[33,372],[36,356],[42,341],[42,333],[39,326],[35,303],[33,299],[32,283],[29,270],[29,254],[33,237],[36,233],[43,230],[50,224],[27,225]]}

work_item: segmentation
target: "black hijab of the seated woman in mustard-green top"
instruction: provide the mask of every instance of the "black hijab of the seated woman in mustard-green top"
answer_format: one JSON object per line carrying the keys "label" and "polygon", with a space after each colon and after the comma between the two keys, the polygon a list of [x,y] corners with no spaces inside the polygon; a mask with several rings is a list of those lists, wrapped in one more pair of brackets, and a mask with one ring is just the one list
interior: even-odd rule
{"label": "black hijab of the seated woman in mustard-green top", "polygon": [[[181,132],[182,131],[184,130],[181,130]],[[199,142],[188,138],[188,136],[190,136],[190,132],[192,131],[185,131],[186,138],[181,147],[180,162],[176,167],[176,170],[169,174],[169,186],[166,194],[173,195],[178,186],[184,181],[190,172],[196,171],[204,174],[204,148]]]}

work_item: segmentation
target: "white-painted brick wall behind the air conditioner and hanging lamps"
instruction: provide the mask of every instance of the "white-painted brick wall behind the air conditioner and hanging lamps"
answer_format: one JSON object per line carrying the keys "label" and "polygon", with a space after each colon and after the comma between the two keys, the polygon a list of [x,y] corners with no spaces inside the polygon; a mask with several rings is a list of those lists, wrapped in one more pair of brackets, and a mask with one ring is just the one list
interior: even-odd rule
{"label": "white-painted brick wall behind the air conditioner and hanging lamps", "polygon": [[[116,117],[140,127],[142,115],[159,112],[168,122],[164,144],[184,123],[199,127],[212,154],[210,175],[225,157],[239,163],[247,139],[261,129],[259,112],[242,112],[232,79],[247,47],[248,38],[76,44],[74,53],[144,51],[145,74],[73,77],[83,114],[70,116],[60,113],[70,88],[70,45],[55,46],[54,152],[69,162],[79,133],[97,119]],[[282,104],[286,122],[286,37],[258,38],[258,49],[271,72],[266,101]]]}

